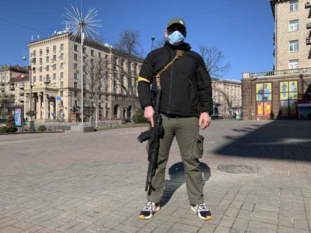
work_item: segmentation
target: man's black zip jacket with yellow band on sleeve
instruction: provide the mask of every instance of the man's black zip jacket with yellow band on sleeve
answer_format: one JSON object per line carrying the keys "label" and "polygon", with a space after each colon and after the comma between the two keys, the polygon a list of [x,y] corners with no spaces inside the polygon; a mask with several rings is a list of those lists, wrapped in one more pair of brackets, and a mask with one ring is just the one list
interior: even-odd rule
{"label": "man's black zip jacket with yellow band on sleeve", "polygon": [[162,90],[160,112],[165,115],[199,116],[213,113],[211,78],[203,58],[190,51],[187,43],[179,46],[167,41],[161,48],[153,50],[146,57],[139,74],[138,94],[142,108],[152,105],[150,85],[156,75],[175,55],[176,50],[184,50],[160,76]]}

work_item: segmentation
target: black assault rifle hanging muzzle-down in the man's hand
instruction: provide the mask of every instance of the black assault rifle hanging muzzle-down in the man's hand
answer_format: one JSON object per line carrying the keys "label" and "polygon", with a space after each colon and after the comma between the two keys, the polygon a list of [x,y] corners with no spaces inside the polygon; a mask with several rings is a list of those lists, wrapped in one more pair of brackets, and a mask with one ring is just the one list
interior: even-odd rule
{"label": "black assault rifle hanging muzzle-down in the man's hand", "polygon": [[164,135],[164,130],[162,126],[162,117],[160,115],[160,102],[161,102],[161,89],[152,89],[154,95],[153,103],[155,104],[155,115],[154,115],[154,127],[151,127],[150,130],[142,132],[139,135],[138,140],[144,142],[149,140],[149,151],[148,151],[148,172],[146,180],[145,191],[148,191],[148,194],[151,194],[151,190],[155,191],[155,188],[152,186],[152,179],[155,176],[155,170],[157,168],[157,155],[159,149],[160,137]]}

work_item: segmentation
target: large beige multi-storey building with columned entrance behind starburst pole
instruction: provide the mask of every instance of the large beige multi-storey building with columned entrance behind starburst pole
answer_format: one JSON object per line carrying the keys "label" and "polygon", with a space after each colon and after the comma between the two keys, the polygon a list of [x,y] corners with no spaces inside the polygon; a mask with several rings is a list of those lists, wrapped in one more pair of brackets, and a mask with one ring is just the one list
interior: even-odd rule
{"label": "large beige multi-storey building with columned entrance behind starburst pole", "polygon": [[[99,100],[99,119],[130,118],[133,106],[120,88],[117,76],[120,76],[120,67],[126,66],[126,54],[100,41],[85,39],[83,43],[83,58],[81,58],[81,41],[73,39],[69,32],[58,33],[51,37],[33,41],[27,44],[29,53],[35,53],[32,62],[32,111],[36,112],[35,121],[61,120],[73,122],[84,117],[95,116],[94,101],[86,85],[89,78],[88,68],[95,59],[102,59],[109,64],[114,75],[107,72],[101,89]],[[84,111],[81,113],[81,59],[83,59],[84,80]],[[114,65],[115,63],[115,65]],[[134,58],[132,71],[137,79],[143,59]],[[114,69],[113,69],[114,68]],[[137,94],[137,80],[135,79],[135,107],[139,108]],[[126,80],[123,81],[127,86]],[[24,107],[29,110],[29,85],[24,88]],[[77,109],[76,117],[73,109]]]}

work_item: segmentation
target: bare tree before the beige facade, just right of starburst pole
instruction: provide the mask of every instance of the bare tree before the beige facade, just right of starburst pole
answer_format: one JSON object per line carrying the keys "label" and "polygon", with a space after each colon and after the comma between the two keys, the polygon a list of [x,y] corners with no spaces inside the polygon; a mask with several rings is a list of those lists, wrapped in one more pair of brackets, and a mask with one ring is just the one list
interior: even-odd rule
{"label": "bare tree before the beige facade, just right of starburst pole", "polygon": [[95,104],[95,123],[98,124],[98,107],[104,90],[108,85],[108,62],[102,58],[94,57],[86,61],[85,84]]}

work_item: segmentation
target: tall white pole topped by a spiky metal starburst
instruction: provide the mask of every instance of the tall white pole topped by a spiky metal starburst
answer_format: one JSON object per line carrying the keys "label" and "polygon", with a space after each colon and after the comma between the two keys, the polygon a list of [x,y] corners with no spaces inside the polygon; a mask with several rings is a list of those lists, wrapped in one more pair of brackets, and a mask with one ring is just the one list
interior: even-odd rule
{"label": "tall white pole topped by a spiky metal starburst", "polygon": [[[81,37],[81,124],[83,124],[83,40],[84,34],[88,38],[92,38],[95,40],[96,36],[99,36],[99,32],[94,29],[94,27],[101,27],[102,25],[98,22],[102,21],[101,19],[94,19],[98,15],[98,10],[95,7],[90,7],[85,16],[82,14],[82,2],[80,9],[78,8],[77,2],[75,2],[75,6],[70,3],[72,12],[65,8],[65,14],[61,14],[65,16],[67,19],[62,21],[61,23],[66,24],[66,30],[68,30],[72,35],[73,41],[76,40],[78,36]],[[69,19],[69,20],[68,20]],[[69,24],[69,27],[67,25]]]}

